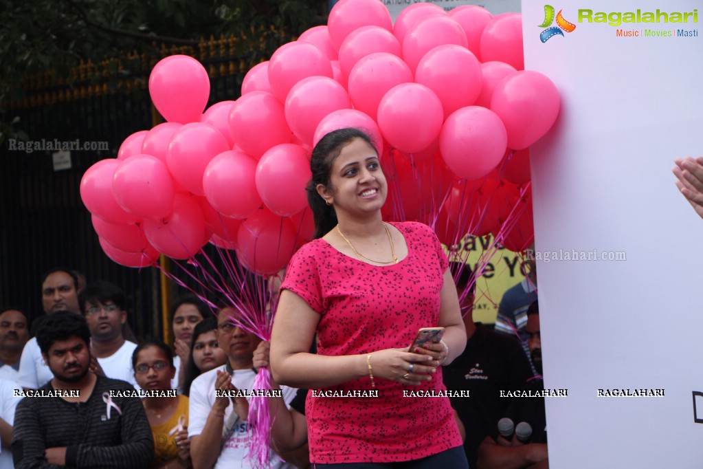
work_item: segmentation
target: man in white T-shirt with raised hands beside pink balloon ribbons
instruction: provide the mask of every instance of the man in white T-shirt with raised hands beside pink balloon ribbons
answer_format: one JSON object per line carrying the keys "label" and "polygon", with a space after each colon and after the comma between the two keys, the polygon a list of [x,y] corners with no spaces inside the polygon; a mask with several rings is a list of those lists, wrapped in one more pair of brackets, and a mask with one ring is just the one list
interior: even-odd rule
{"label": "man in white T-shirt with raised hands beside pink balloon ribbons", "polygon": [[[253,368],[254,350],[261,342],[232,323],[234,312],[223,309],[217,315],[217,342],[228,361],[195,378],[191,385],[188,409],[188,437],[191,457],[197,468],[251,468],[247,459],[251,432],[246,421],[248,403],[245,397],[216,397],[216,390],[253,389],[257,371]],[[230,378],[231,376],[231,378]],[[297,390],[282,386],[283,399],[290,404]],[[272,469],[292,468],[273,452]]]}

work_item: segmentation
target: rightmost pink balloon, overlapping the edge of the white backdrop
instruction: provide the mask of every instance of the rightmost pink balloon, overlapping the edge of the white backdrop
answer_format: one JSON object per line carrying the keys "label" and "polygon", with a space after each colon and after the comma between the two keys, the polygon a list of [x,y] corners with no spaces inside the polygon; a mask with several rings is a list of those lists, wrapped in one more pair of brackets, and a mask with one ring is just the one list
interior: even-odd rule
{"label": "rightmost pink balloon, overlapping the edge of the white backdrop", "polygon": [[559,91],[539,72],[522,70],[504,78],[493,93],[491,110],[508,131],[508,147],[522,150],[542,138],[559,114]]}

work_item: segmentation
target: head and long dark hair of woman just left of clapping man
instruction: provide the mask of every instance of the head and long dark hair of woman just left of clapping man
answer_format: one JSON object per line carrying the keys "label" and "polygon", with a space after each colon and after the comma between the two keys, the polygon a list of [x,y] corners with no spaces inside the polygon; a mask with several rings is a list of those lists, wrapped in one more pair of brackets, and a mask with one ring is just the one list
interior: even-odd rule
{"label": "head and long dark hair of woman just left of clapping man", "polygon": [[190,395],[191,383],[205,371],[224,365],[227,356],[217,343],[217,321],[214,316],[200,321],[193,329],[193,342],[188,355],[188,368],[183,380],[183,394]]}

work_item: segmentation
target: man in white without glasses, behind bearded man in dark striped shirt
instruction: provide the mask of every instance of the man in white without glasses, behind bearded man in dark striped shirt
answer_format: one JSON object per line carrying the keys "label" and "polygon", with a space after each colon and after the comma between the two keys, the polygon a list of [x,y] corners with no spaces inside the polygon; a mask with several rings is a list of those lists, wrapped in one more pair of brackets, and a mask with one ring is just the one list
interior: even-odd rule
{"label": "man in white without glasses, behind bearded man in dark striped shirt", "polygon": [[[41,280],[41,306],[49,315],[56,311],[80,314],[78,307],[78,277],[70,269],[57,267],[44,274]],[[39,318],[40,321],[42,318]],[[36,322],[36,321],[35,321]],[[27,389],[39,389],[53,378],[53,373],[41,358],[37,339],[31,338],[22,350],[17,381]]]}

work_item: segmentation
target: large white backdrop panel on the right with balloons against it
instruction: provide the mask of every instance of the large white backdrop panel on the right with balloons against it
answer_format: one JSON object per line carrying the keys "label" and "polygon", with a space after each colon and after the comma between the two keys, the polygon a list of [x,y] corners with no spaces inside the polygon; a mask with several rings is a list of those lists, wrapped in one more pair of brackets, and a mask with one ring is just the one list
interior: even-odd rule
{"label": "large white backdrop panel on the right with balloons against it", "polygon": [[703,220],[671,167],[703,154],[702,4],[573,5],[522,1],[525,68],[562,97],[531,148],[545,383],[568,389],[550,467],[700,468]]}

